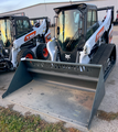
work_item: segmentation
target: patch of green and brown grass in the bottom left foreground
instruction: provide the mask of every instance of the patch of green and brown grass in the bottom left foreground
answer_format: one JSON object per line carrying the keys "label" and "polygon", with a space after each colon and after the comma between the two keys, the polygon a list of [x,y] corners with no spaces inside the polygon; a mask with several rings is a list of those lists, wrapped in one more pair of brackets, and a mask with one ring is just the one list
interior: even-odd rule
{"label": "patch of green and brown grass in the bottom left foreground", "polygon": [[81,132],[73,128],[64,128],[64,122],[47,123],[40,116],[22,116],[10,107],[0,107],[0,132]]}

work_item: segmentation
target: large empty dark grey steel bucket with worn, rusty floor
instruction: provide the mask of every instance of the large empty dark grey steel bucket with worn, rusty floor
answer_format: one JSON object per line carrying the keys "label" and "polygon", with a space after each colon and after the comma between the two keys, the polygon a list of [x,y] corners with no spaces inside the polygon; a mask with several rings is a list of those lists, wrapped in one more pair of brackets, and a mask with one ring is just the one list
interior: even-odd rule
{"label": "large empty dark grey steel bucket with worn, rusty floor", "polygon": [[89,128],[105,95],[103,67],[25,58],[2,98],[13,91],[14,102]]}

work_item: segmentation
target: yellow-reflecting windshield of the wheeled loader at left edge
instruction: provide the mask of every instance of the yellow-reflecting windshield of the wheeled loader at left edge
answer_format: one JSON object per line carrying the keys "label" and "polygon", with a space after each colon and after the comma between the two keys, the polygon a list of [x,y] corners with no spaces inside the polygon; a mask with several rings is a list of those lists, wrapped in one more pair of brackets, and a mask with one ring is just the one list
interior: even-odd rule
{"label": "yellow-reflecting windshield of the wheeled loader at left edge", "polygon": [[0,20],[0,42],[4,47],[11,45],[11,22],[10,20]]}

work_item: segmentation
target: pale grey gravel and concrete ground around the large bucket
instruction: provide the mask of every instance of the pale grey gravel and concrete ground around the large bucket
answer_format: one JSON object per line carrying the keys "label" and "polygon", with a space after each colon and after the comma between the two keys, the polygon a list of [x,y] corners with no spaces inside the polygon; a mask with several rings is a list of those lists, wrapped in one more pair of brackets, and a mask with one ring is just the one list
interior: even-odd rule
{"label": "pale grey gravel and concrete ground around the large bucket", "polygon": [[[51,29],[53,32],[53,30]],[[118,26],[114,28],[114,40],[112,42],[117,46],[118,51]],[[118,56],[117,56],[118,59]],[[0,106],[8,108],[11,102],[7,99],[2,99],[1,95],[6,91],[8,88],[14,73],[2,73],[0,74]],[[106,112],[118,112],[118,62],[116,63],[116,66],[114,67],[112,72],[110,73],[109,77],[107,78],[105,82],[105,97],[99,106],[99,110],[106,111]],[[14,105],[13,110],[17,110],[24,114],[25,112],[31,112],[33,114],[39,114],[39,111],[32,110],[30,108],[25,108],[23,106]],[[57,122],[57,119],[53,119],[51,117],[47,117],[45,114],[40,113],[42,119],[45,119],[49,122]],[[88,132],[88,130],[81,128],[75,124],[66,123],[65,127],[74,127],[76,129],[83,130],[84,132]],[[105,121],[100,120],[97,117],[94,117],[94,120],[92,122],[92,127],[89,132],[118,132],[118,120],[112,121]]]}

